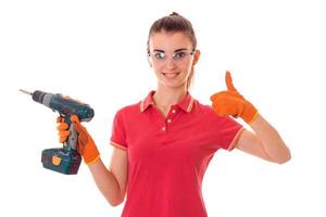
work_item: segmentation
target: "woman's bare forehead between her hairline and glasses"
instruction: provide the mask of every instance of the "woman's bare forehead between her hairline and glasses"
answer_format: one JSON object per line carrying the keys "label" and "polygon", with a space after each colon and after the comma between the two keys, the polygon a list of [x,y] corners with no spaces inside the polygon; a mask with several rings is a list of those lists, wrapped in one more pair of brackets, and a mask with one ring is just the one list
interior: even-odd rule
{"label": "woman's bare forehead between her hairline and glasses", "polygon": [[175,51],[177,49],[191,49],[192,44],[185,33],[154,33],[149,39],[150,50]]}

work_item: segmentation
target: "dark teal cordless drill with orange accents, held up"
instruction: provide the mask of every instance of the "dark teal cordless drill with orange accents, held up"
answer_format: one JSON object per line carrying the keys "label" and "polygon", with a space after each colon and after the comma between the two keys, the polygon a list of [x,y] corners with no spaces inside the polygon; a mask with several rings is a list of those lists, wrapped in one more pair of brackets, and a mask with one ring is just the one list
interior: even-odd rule
{"label": "dark teal cordless drill with orange accents, held up", "polygon": [[78,173],[82,156],[77,152],[78,135],[74,129],[71,120],[72,115],[77,115],[80,122],[89,122],[93,117],[93,110],[85,103],[63,97],[60,93],[48,93],[36,90],[33,93],[21,90],[30,94],[33,100],[39,102],[53,112],[59,112],[60,116],[70,126],[70,136],[61,149],[47,149],[42,151],[41,162],[45,168],[51,169],[65,175],[75,175]]}

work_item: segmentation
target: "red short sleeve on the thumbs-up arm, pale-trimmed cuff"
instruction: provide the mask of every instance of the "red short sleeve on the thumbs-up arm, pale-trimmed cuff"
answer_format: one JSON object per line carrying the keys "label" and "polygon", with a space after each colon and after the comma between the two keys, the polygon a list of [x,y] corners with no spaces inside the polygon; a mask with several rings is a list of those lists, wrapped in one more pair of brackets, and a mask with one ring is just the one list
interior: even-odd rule
{"label": "red short sleeve on the thumbs-up arm, pale-trimmed cuff", "polygon": [[244,128],[231,117],[221,117],[218,128],[220,146],[231,151]]}

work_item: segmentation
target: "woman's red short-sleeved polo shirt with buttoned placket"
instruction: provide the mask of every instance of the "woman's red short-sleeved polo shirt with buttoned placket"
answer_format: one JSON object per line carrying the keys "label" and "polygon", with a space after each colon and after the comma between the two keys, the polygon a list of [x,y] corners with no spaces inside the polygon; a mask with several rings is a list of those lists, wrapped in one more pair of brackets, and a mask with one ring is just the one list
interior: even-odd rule
{"label": "woman's red short-sleeved polo shirt with buttoned placket", "polygon": [[231,150],[242,126],[187,94],[165,118],[153,93],[120,110],[111,144],[128,152],[123,217],[204,217],[202,178],[214,153]]}

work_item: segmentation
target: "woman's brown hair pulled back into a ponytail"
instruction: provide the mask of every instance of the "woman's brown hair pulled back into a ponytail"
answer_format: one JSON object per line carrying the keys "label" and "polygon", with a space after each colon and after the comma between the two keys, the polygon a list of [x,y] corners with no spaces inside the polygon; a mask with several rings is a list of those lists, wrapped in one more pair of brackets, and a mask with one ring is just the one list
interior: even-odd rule
{"label": "woman's brown hair pulled back into a ponytail", "polygon": [[[179,15],[176,12],[173,12],[172,14],[170,14],[168,16],[163,16],[162,18],[156,20],[150,30],[149,30],[149,35],[148,35],[148,41],[147,41],[147,52],[150,52],[150,48],[149,48],[149,39],[150,36],[152,34],[155,33],[160,33],[160,31],[166,31],[166,33],[185,33],[191,43],[192,43],[192,50],[195,51],[197,48],[197,38],[195,35],[195,30],[192,28],[191,23],[185,18],[184,16]],[[193,67],[191,68],[189,78],[187,80],[187,89],[189,89],[191,82],[192,82],[192,77],[193,77]]]}

